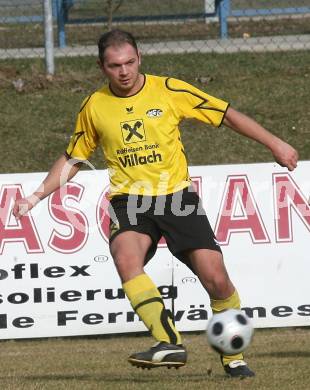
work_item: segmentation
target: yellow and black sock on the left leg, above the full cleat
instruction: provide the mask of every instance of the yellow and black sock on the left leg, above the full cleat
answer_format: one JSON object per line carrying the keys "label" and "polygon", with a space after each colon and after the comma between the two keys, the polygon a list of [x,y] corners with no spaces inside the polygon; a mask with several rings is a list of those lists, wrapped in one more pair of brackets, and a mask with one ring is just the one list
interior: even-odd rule
{"label": "yellow and black sock on the left leg, above the full cleat", "polygon": [[157,287],[146,274],[141,274],[123,284],[123,289],[135,312],[157,341],[181,344],[181,336]]}

